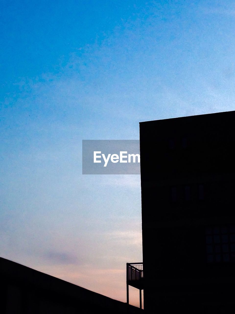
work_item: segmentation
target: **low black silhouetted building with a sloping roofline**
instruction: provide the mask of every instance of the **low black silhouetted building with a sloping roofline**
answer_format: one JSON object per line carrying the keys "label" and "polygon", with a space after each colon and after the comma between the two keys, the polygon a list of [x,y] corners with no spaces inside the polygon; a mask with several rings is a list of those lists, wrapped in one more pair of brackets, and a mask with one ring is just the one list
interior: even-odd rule
{"label": "low black silhouetted building with a sloping roofline", "polygon": [[140,313],[135,306],[70,284],[0,257],[0,313]]}

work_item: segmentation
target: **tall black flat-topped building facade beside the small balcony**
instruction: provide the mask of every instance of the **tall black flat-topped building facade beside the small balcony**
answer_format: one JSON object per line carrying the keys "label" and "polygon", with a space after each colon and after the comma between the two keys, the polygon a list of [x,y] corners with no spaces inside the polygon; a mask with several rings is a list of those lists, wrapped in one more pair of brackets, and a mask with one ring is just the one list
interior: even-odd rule
{"label": "tall black flat-topped building facade beside the small balcony", "polygon": [[147,311],[235,313],[234,121],[140,123]]}

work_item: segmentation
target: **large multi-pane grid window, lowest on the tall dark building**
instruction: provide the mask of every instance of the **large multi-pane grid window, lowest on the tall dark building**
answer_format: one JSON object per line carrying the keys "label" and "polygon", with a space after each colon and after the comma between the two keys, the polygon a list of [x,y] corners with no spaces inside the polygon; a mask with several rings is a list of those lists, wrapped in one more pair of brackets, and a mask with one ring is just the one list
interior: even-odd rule
{"label": "large multi-pane grid window, lowest on the tall dark building", "polygon": [[206,228],[208,263],[235,262],[235,226]]}

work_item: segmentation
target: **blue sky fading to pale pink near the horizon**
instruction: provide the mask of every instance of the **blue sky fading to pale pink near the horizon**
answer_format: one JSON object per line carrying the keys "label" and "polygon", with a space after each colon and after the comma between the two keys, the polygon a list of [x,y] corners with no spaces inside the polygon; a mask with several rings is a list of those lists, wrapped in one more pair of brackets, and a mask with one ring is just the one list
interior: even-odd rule
{"label": "blue sky fading to pale pink near the horizon", "polygon": [[2,0],[0,256],[125,302],[140,176],[82,175],[82,140],[235,110],[234,26],[228,0]]}

